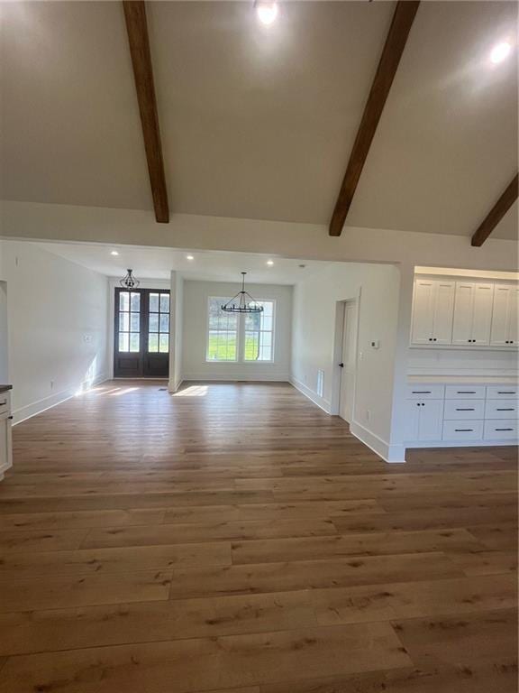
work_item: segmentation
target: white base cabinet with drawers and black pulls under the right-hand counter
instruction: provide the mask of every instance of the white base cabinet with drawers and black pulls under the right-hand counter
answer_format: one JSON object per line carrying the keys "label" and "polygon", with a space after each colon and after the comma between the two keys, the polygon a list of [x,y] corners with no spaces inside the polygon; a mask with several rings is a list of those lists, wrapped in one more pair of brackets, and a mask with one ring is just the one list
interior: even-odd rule
{"label": "white base cabinet with drawers and black pulls under the right-hand counter", "polygon": [[405,402],[405,445],[514,445],[519,442],[519,387],[416,383]]}

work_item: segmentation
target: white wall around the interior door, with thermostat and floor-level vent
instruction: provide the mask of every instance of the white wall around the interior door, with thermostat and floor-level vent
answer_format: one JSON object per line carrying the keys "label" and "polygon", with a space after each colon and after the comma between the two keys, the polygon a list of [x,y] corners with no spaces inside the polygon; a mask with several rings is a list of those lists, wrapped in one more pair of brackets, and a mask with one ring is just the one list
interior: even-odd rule
{"label": "white wall around the interior door, with thermostat and floor-level vent", "polygon": [[[360,296],[356,402],[351,430],[380,454],[391,432],[391,398],[396,350],[399,272],[394,265],[330,264],[294,291],[292,382],[325,411],[332,411],[333,383],[341,369],[334,360],[337,301]],[[370,347],[372,340],[380,347]],[[324,371],[323,397],[315,392]]]}

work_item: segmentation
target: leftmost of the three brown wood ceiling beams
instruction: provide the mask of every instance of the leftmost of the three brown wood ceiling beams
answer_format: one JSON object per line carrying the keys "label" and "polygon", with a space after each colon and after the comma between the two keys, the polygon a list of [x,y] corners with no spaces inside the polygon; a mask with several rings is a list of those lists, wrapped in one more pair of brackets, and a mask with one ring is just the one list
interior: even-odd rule
{"label": "leftmost of the three brown wood ceiling beams", "polygon": [[123,0],[123,8],[132,54],[133,77],[141,113],[142,134],[146,159],[148,160],[155,218],[158,222],[167,224],[169,221],[168,191],[160,144],[159,115],[157,114],[157,99],[153,84],[146,7],[141,0]]}

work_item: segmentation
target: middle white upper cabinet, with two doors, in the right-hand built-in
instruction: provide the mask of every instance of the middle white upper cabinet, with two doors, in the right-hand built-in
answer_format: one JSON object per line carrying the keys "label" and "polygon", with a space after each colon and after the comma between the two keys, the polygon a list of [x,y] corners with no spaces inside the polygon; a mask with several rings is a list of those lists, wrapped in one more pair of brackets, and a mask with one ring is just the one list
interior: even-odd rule
{"label": "middle white upper cabinet, with two doors, in the right-hand built-in", "polygon": [[490,344],[494,284],[456,282],[452,344],[470,347]]}

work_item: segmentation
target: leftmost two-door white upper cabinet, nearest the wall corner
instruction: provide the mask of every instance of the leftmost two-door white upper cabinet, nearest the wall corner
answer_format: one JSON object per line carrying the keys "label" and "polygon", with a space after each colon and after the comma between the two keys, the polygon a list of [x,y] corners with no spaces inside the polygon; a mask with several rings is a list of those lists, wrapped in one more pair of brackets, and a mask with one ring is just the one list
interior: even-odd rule
{"label": "leftmost two-door white upper cabinet, nearest the wall corner", "polygon": [[416,279],[413,344],[451,344],[455,282]]}

